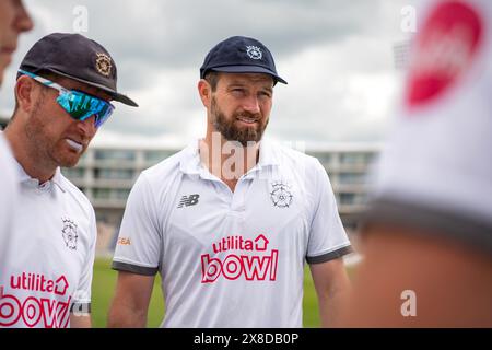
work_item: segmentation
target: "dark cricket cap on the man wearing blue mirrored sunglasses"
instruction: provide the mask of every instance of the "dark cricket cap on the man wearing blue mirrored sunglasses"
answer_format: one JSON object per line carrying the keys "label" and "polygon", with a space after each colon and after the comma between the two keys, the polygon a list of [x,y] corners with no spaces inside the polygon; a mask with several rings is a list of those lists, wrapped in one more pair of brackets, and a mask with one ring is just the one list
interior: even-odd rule
{"label": "dark cricket cap on the man wearing blue mirrored sunglasses", "polygon": [[70,78],[107,92],[114,101],[138,107],[116,91],[116,63],[109,52],[80,34],[52,33],[43,37],[25,55],[20,69]]}

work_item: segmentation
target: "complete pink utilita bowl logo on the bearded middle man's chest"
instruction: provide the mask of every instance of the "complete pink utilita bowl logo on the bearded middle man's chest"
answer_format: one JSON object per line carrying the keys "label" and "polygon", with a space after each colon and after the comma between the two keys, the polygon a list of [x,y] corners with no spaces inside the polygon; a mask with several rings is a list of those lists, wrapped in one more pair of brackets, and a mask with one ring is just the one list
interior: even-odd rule
{"label": "complete pink utilita bowl logo on the bearded middle man's chest", "polygon": [[224,259],[212,258],[209,254],[201,256],[201,282],[213,283],[220,277],[227,280],[244,278],[247,281],[274,281],[279,250],[268,250],[269,241],[262,234],[255,240],[243,236],[229,236],[212,244],[213,253],[235,250]]}

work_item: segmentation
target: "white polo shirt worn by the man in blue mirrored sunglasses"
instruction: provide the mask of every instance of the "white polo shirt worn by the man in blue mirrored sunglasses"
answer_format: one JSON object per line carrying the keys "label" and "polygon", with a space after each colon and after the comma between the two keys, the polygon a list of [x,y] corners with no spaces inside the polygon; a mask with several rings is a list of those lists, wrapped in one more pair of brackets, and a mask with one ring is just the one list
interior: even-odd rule
{"label": "white polo shirt worn by the man in blue mirrored sunglasses", "polygon": [[96,242],[94,210],[58,168],[39,185],[16,163],[20,200],[0,257],[0,327],[69,327],[87,312]]}

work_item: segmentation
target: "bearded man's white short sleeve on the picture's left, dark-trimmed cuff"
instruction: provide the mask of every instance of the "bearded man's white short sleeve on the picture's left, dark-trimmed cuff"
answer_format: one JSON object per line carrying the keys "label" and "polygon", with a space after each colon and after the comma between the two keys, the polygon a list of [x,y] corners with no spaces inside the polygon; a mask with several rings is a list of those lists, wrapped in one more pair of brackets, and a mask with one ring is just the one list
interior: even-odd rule
{"label": "bearded man's white short sleeve on the picture's left, dark-trimmed cuff", "polygon": [[142,173],[128,197],[113,269],[154,276],[159,270],[161,241],[155,199],[149,180]]}

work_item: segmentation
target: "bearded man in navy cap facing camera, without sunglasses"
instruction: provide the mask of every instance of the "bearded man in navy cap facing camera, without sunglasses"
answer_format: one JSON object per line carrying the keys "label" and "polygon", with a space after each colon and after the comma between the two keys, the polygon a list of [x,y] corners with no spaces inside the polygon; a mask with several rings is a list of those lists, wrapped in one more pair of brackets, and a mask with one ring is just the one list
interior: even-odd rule
{"label": "bearded man in navy cap facing camera, without sunglasses", "polygon": [[331,325],[350,242],[321,164],[262,140],[273,88],[286,83],[270,50],[230,37],[200,78],[204,138],[144,171],[130,194],[109,326],[145,326],[160,272],[163,327],[301,327],[306,260]]}

